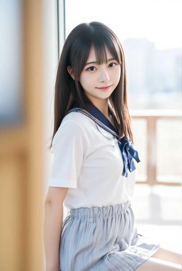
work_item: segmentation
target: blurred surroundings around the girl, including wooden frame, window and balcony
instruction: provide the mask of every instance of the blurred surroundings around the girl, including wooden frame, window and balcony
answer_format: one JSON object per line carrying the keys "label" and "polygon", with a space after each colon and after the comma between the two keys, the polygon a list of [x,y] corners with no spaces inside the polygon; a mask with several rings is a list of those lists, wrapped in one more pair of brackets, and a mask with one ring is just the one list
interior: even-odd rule
{"label": "blurred surroundings around the girl, including wooden frame, window and balcony", "polygon": [[90,21],[108,25],[124,49],[141,160],[131,200],[138,233],[181,253],[181,9],[178,0],[0,1],[1,270],[45,270],[57,64],[70,31]]}

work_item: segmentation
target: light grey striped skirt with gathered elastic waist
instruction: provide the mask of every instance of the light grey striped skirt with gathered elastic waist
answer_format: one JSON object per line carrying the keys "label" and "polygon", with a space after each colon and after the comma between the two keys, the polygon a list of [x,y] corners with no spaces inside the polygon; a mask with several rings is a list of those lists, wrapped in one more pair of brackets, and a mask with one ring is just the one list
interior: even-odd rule
{"label": "light grey striped skirt with gathered elastic waist", "polygon": [[68,210],[60,238],[60,271],[133,271],[160,247],[137,233],[130,201]]}

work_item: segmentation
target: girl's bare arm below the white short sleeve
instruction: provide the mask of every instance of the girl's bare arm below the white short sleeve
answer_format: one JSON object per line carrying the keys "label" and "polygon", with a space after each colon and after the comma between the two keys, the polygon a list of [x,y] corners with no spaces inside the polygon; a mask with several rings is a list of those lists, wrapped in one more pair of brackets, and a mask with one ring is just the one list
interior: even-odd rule
{"label": "girl's bare arm below the white short sleeve", "polygon": [[67,187],[49,186],[45,200],[44,249],[46,271],[59,271],[59,244],[63,222],[63,201]]}

